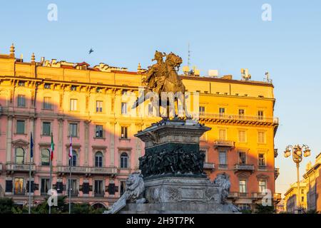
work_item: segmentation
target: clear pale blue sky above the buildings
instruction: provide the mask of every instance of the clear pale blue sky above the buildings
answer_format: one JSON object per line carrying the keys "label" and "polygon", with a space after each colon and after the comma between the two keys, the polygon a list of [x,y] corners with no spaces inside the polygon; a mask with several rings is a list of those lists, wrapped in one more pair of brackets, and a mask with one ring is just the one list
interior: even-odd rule
{"label": "clear pale blue sky above the buildings", "polygon": [[[58,6],[58,21],[47,20],[47,6]],[[262,21],[263,4],[272,21]],[[265,71],[275,85],[275,116],[280,127],[277,191],[296,179],[295,165],[282,157],[287,144],[306,143],[314,162],[321,152],[321,4],[320,1],[4,1],[0,8],[0,53],[31,53],[46,59],[100,62],[136,70],[151,63],[156,49],[173,51],[202,73],[240,78],[249,68],[253,80]],[[94,49],[91,56],[88,50]]]}

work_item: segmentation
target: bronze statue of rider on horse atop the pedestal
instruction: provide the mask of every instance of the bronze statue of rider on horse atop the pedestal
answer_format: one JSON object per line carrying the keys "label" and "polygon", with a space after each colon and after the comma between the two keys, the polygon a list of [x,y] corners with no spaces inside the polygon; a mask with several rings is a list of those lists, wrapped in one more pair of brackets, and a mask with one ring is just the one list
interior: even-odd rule
{"label": "bronze statue of rider on horse atop the pedestal", "polygon": [[[163,56],[166,56],[165,62],[163,62]],[[146,77],[143,78],[142,83],[145,84],[146,89],[141,97],[133,104],[133,108],[136,108],[138,105],[143,103],[145,98],[148,99],[151,92],[153,92],[153,95],[158,95],[159,98],[158,103],[157,99],[153,98],[153,96],[150,98],[153,107],[161,107],[162,105],[163,108],[168,107],[168,100],[166,102],[166,107],[164,107],[164,103],[161,103],[162,92],[173,93],[174,95],[179,94],[180,100],[184,105],[185,86],[178,76],[180,64],[183,63],[182,58],[172,52],[165,55],[165,53],[156,51],[155,58],[153,60],[157,60],[157,63],[149,67],[148,71],[144,73]],[[175,97],[175,101],[178,102],[178,97]],[[158,107],[156,107],[156,110],[158,110]]]}

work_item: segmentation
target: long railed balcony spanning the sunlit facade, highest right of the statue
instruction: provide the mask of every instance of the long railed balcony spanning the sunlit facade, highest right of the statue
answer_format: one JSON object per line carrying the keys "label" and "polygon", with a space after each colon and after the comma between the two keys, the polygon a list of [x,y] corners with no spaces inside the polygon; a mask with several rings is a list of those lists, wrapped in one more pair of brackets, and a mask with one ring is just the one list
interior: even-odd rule
{"label": "long railed balcony spanning the sunlit facade, highest right of the statue", "polygon": [[[193,113],[195,116],[195,113]],[[273,123],[278,124],[279,118],[255,116],[255,115],[228,115],[220,113],[199,113],[199,117],[202,119],[215,119],[229,121],[242,121],[242,122],[260,122],[260,123]]]}

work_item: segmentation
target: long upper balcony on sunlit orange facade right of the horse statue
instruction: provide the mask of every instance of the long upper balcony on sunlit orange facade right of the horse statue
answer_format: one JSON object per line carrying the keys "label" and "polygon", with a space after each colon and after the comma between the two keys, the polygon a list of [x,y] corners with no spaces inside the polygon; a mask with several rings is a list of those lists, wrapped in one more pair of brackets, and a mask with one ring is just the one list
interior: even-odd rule
{"label": "long upper balcony on sunlit orange facade right of the horse statue", "polygon": [[[197,113],[193,113],[196,115]],[[262,125],[278,125],[279,118],[255,116],[255,115],[227,115],[220,113],[199,113],[201,120],[223,122],[223,123],[248,123]]]}

